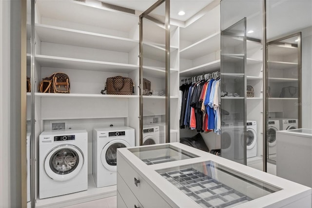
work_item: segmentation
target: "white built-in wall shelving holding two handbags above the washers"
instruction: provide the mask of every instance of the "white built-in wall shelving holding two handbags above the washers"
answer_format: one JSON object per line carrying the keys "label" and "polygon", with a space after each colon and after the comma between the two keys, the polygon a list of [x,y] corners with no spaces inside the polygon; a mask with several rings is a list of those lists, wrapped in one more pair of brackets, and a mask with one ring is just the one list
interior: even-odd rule
{"label": "white built-in wall shelving holding two handbags above the washers", "polygon": [[[35,89],[54,72],[66,73],[71,84],[70,94],[34,92],[35,138],[38,141],[43,130],[50,130],[53,121],[87,129],[89,174],[88,190],[51,199],[36,196],[35,206],[61,207],[116,195],[116,186],[97,188],[91,176],[92,128],[129,125],[138,141],[138,17],[104,8],[101,1],[37,0],[35,7]],[[134,94],[102,95],[106,79],[118,75],[134,81]],[[36,158],[38,152],[36,144]],[[38,193],[38,174],[36,178]]]}

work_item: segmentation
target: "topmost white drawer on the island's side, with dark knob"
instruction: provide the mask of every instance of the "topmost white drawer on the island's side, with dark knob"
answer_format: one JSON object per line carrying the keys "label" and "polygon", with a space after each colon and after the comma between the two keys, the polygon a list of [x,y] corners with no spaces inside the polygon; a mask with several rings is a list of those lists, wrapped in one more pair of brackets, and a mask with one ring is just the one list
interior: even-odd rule
{"label": "topmost white drawer on the island's side, with dark knob", "polygon": [[[117,172],[143,207],[170,208],[170,205],[156,192],[156,190],[144,181],[144,179],[122,157],[118,157]],[[135,181],[138,182],[137,185],[135,184]]]}

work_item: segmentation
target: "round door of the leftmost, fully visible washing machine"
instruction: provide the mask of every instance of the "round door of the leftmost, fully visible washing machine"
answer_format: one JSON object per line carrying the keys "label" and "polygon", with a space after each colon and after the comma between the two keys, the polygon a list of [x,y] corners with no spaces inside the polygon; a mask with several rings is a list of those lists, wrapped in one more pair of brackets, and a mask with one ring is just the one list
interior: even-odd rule
{"label": "round door of the leftmost, fully visible washing machine", "polygon": [[59,145],[51,149],[44,159],[44,170],[55,181],[73,179],[84,164],[81,150],[74,145]]}

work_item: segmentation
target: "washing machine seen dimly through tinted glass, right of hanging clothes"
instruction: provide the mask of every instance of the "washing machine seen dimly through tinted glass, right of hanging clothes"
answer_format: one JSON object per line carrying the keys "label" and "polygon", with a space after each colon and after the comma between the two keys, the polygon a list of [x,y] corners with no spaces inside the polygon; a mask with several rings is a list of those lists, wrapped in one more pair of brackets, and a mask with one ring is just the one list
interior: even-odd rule
{"label": "washing machine seen dimly through tinted glass, right of hanging clothes", "polygon": [[226,124],[221,131],[221,157],[242,163],[244,160],[243,125]]}

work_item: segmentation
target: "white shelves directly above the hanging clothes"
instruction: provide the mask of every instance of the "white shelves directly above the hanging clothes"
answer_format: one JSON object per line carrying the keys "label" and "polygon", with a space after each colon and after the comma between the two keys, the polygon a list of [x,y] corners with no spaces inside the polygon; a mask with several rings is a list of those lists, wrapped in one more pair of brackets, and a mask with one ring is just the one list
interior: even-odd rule
{"label": "white shelves directly above the hanging clothes", "polygon": [[220,7],[213,2],[180,27],[180,77],[220,69]]}

